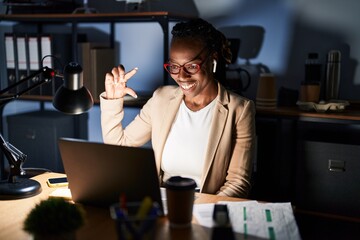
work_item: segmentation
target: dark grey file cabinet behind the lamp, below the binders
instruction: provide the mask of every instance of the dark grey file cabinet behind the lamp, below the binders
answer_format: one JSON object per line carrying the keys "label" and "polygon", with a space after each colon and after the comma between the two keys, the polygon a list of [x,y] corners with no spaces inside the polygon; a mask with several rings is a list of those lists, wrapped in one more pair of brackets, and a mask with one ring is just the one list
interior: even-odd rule
{"label": "dark grey file cabinet behind the lamp, below the binders", "polygon": [[10,115],[7,117],[8,141],[27,155],[24,167],[64,172],[57,141],[61,137],[86,137],[84,133],[77,136],[74,124],[77,117],[56,111]]}

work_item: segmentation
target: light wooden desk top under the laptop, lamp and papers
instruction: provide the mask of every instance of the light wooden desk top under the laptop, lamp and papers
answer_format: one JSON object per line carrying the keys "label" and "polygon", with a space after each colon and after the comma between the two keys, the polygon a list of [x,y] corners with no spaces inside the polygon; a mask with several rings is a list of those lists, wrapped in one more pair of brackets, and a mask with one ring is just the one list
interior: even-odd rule
{"label": "light wooden desk top under the laptop, lamp and papers", "polygon": [[[18,200],[0,200],[0,239],[32,239],[22,230],[23,222],[31,209],[41,200],[47,199],[55,188],[49,188],[46,180],[50,177],[61,177],[64,174],[46,173],[34,177],[41,183],[42,192],[34,197]],[[245,201],[246,199],[220,197],[209,194],[197,194],[196,203],[215,203],[218,201]],[[117,239],[114,221],[108,209],[85,207],[86,224],[77,233],[77,239]],[[210,239],[210,229],[196,224],[193,220],[189,229],[171,229],[166,217],[159,219],[156,239]]]}

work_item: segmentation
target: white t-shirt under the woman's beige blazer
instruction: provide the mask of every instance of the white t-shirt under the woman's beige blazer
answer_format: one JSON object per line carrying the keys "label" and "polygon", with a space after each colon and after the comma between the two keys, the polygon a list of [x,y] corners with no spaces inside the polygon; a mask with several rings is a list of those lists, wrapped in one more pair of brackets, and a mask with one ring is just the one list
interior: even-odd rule
{"label": "white t-shirt under the woman's beige blazer", "polygon": [[200,187],[214,107],[215,100],[193,112],[182,101],[163,151],[164,181],[171,176],[189,177]]}

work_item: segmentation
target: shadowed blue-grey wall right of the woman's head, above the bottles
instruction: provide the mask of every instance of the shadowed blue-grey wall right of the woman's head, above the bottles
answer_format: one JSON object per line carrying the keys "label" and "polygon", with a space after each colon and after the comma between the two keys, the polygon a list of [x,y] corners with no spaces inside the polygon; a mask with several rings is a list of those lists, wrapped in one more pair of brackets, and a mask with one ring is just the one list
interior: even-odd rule
{"label": "shadowed blue-grey wall right of the woman's head, above the bottles", "polygon": [[[201,2],[200,0],[198,2]],[[360,2],[357,0],[244,0],[232,10],[209,18],[217,27],[260,25],[265,28],[263,47],[252,63],[269,66],[278,77],[278,87],[299,89],[304,80],[308,52],[318,52],[322,63],[330,49],[342,51],[340,98],[359,100]],[[224,16],[226,15],[226,16]],[[239,63],[244,60],[239,59]],[[323,68],[323,77],[325,68]],[[254,98],[256,79],[246,96]]]}

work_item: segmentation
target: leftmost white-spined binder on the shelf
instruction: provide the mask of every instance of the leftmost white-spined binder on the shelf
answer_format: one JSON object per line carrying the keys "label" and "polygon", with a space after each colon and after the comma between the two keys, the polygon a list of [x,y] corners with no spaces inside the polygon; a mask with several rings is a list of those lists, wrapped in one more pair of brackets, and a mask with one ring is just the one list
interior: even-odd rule
{"label": "leftmost white-spined binder on the shelf", "polygon": [[[6,57],[6,71],[7,84],[11,86],[16,82],[16,60],[15,60],[15,36],[10,33],[5,33],[5,57]],[[9,93],[15,93],[16,89],[12,89]]]}

